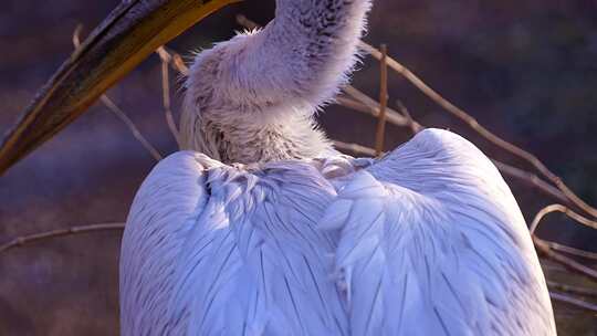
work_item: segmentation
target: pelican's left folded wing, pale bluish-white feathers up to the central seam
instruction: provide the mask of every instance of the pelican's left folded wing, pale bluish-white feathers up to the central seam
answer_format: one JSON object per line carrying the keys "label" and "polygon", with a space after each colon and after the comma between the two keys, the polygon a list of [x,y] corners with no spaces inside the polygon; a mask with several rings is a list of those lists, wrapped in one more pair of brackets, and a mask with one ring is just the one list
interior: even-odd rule
{"label": "pelican's left folded wing, pale bluish-white feathers up to the central seam", "polygon": [[167,158],[128,219],[123,334],[347,335],[335,241],[317,228],[335,195],[308,164],[251,174]]}

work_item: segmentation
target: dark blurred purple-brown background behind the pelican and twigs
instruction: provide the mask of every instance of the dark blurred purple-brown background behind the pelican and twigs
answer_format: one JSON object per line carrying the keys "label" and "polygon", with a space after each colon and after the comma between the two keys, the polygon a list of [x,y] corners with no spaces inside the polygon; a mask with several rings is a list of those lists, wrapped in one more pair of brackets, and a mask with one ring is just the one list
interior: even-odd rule
{"label": "dark blurred purple-brown background behind the pelican and twigs", "polygon": [[[117,2],[2,1],[1,134],[70,54],[75,27],[82,23],[88,32]],[[191,55],[241,30],[237,13],[266,23],[273,11],[273,0],[248,0],[169,46]],[[597,2],[377,0],[365,40],[387,43],[391,56],[597,203]],[[378,63],[366,59],[360,67],[354,85],[377,97]],[[176,77],[171,84],[179,87]],[[527,167],[481,140],[401,77],[390,74],[389,87],[390,105],[400,99],[422,124],[452,129],[493,157]],[[108,95],[163,155],[176,150],[163,113],[156,55]],[[374,145],[376,120],[366,115],[329,106],[320,119],[334,139]],[[387,149],[408,138],[408,129],[388,126]],[[0,244],[51,229],[124,222],[154,165],[124,124],[94,106],[0,177]],[[511,186],[528,221],[554,201],[517,182]],[[563,216],[551,216],[540,235],[597,252],[597,234]],[[0,254],[0,335],[116,335],[119,237],[67,237]],[[561,335],[597,335],[597,317],[563,304],[556,312]]]}

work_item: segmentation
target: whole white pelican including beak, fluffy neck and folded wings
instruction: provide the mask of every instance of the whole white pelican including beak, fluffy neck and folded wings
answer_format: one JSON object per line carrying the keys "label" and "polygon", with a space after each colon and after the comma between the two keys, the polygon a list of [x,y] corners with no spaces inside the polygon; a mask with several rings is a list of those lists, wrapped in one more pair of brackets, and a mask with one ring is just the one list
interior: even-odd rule
{"label": "whole white pelican including beak, fluffy neck and folded wings", "polygon": [[[9,134],[0,169],[226,2],[124,1]],[[317,128],[370,6],[277,0],[263,30],[196,56],[184,150],[127,219],[123,335],[556,335],[524,218],[474,145],[427,129],[353,158]]]}

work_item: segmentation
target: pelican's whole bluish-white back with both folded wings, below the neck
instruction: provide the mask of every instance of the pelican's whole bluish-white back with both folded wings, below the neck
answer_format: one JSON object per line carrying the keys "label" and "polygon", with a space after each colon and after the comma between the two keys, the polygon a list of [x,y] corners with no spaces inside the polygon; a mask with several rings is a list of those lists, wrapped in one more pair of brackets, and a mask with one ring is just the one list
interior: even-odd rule
{"label": "pelican's whole bluish-white back with both folded wings, below the neck", "polygon": [[124,335],[555,335],[512,193],[442,130],[376,164],[176,154],[135,198],[121,274]]}

